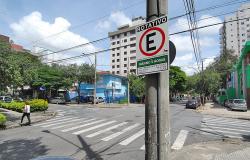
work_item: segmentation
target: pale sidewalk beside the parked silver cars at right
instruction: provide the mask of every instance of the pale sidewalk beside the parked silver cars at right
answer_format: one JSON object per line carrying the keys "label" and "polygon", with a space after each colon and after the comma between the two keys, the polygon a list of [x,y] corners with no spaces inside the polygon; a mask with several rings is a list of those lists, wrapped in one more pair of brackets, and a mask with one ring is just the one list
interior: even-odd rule
{"label": "pale sidewalk beside the parked silver cars at right", "polygon": [[200,112],[201,114],[215,115],[219,117],[250,120],[250,111],[247,112],[231,111],[221,105],[211,102],[206,103],[205,106],[199,107],[197,112]]}

